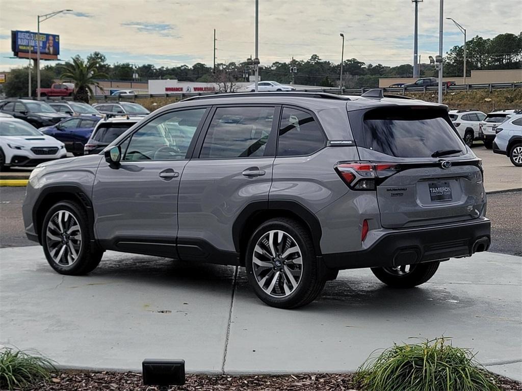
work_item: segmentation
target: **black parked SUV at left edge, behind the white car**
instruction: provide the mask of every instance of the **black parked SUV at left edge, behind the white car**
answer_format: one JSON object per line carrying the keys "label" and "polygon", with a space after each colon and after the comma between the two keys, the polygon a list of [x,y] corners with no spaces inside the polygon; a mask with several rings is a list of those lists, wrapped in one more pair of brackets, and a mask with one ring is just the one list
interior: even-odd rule
{"label": "black parked SUV at left edge, behind the white car", "polygon": [[54,108],[45,102],[29,99],[14,99],[0,103],[0,112],[10,114],[15,118],[23,119],[35,128],[57,124],[68,115],[57,113]]}

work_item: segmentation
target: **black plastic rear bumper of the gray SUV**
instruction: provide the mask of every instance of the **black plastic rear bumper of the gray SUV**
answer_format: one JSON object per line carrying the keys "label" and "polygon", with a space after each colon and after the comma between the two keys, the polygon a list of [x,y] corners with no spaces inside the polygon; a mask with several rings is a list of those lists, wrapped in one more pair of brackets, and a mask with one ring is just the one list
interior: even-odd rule
{"label": "black plastic rear bumper of the gray SUV", "polygon": [[411,265],[469,256],[487,250],[490,242],[491,223],[482,217],[473,222],[393,230],[370,248],[323,254],[323,260],[333,269]]}

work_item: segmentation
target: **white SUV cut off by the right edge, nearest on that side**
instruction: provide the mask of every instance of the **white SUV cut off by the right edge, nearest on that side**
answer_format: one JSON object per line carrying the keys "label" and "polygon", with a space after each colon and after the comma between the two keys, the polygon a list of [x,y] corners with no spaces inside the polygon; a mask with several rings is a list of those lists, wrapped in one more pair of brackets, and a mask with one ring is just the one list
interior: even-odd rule
{"label": "white SUV cut off by the right edge, nearest on that side", "polygon": [[522,114],[513,114],[495,128],[493,152],[507,155],[511,163],[522,167]]}

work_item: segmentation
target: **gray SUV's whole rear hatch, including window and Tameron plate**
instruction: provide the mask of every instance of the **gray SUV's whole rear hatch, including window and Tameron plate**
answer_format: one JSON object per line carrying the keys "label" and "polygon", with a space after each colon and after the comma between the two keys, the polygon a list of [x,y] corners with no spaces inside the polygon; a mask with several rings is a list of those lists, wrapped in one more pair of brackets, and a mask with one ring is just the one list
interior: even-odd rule
{"label": "gray SUV's whole rear hatch, including window and Tameron plate", "polygon": [[[352,118],[360,126],[353,126]],[[350,115],[350,124],[352,131],[358,129],[361,161],[373,163],[383,227],[480,216],[485,203],[481,161],[459,138],[445,109],[377,108]]]}

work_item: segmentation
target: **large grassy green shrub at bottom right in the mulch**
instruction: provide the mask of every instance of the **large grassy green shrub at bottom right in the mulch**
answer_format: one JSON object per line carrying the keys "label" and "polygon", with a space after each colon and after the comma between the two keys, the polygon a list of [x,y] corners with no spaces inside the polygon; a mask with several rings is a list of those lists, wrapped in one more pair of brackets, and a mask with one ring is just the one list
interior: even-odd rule
{"label": "large grassy green shrub at bottom right in the mulch", "polygon": [[499,391],[469,349],[444,337],[372,354],[355,381],[365,391]]}

